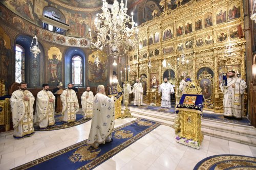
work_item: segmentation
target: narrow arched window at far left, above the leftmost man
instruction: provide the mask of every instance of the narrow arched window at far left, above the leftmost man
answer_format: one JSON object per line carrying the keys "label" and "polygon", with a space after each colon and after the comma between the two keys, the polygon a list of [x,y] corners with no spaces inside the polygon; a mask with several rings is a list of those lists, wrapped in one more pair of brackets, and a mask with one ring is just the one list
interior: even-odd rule
{"label": "narrow arched window at far left, above the leftmost man", "polygon": [[25,82],[25,50],[22,46],[15,46],[15,82]]}

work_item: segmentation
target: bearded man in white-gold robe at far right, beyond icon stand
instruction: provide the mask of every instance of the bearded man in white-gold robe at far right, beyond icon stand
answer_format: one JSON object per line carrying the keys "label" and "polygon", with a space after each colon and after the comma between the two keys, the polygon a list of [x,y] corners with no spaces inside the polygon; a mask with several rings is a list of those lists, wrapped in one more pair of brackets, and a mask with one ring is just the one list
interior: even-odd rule
{"label": "bearded man in white-gold robe at far right, beyond icon stand", "polygon": [[244,110],[244,92],[247,86],[243,79],[236,77],[236,72],[229,71],[228,76],[227,86],[221,84],[221,91],[224,94],[224,116],[241,119]]}

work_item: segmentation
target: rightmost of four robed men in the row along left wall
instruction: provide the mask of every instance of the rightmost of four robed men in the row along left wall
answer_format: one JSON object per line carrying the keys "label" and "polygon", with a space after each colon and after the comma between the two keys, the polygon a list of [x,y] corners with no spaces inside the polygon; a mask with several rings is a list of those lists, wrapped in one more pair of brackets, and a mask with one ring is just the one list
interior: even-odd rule
{"label": "rightmost of four robed men in the row along left wall", "polygon": [[93,92],[90,91],[90,87],[86,88],[86,91],[82,93],[81,96],[81,104],[82,104],[82,111],[84,113],[84,119],[92,117],[92,109],[93,109]]}

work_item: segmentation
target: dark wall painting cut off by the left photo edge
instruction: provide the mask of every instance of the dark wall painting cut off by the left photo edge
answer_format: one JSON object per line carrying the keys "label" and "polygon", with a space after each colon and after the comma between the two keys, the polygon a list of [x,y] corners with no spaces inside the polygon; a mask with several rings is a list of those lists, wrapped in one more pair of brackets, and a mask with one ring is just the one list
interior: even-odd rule
{"label": "dark wall painting cut off by the left photo edge", "polygon": [[0,27],[0,55],[0,79],[4,79],[6,86],[9,86],[11,81],[7,80],[11,77],[11,41],[2,27]]}

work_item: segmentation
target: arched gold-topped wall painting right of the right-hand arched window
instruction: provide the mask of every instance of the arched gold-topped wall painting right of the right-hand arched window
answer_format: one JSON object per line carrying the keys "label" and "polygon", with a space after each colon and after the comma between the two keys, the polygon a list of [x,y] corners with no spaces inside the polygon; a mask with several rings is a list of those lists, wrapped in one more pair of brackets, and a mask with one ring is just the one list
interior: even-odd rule
{"label": "arched gold-topped wall painting right of the right-hand arched window", "polygon": [[[102,51],[96,51],[89,55],[89,71],[88,81],[92,86],[97,86],[99,83],[106,85],[108,80],[108,59]],[[100,63],[98,66],[94,63],[96,57],[99,57]]]}

